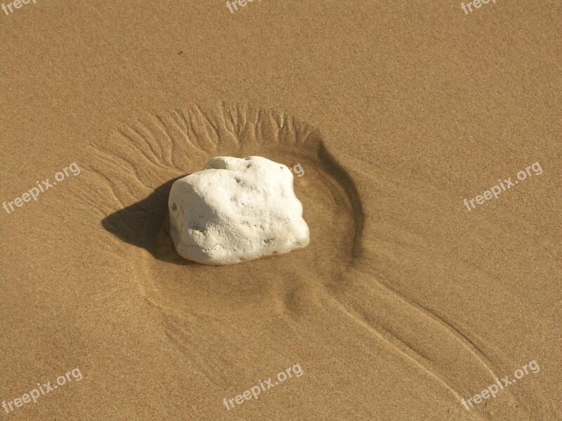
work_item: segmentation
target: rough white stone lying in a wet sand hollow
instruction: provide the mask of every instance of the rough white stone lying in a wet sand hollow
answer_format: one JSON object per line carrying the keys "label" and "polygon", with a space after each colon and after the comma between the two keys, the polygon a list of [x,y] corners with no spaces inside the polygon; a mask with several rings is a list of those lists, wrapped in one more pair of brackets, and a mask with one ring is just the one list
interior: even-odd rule
{"label": "rough white stone lying in a wet sand hollow", "polygon": [[303,206],[286,166],[218,156],[174,182],[170,234],[183,258],[228,265],[308,245]]}

